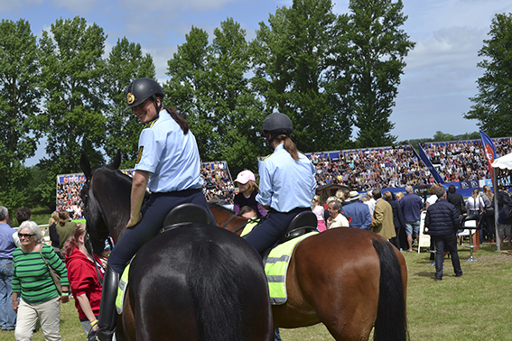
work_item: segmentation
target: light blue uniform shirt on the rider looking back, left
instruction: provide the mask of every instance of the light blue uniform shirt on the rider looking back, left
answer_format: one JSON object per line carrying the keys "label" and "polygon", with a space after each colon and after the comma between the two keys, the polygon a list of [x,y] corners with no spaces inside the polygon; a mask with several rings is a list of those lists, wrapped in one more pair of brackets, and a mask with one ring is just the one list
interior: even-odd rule
{"label": "light blue uniform shirt on the rider looking back, left", "polygon": [[135,171],[149,171],[152,192],[200,189],[200,155],[195,136],[182,128],[166,111],[146,124],[139,137]]}

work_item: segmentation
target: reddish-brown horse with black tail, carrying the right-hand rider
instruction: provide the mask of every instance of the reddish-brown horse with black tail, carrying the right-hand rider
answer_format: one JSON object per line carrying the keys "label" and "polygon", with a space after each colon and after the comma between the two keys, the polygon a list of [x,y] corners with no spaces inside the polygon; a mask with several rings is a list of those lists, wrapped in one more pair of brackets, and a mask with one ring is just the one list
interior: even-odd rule
{"label": "reddish-brown horse with black tail, carrying the right-hand rider", "polygon": [[[241,233],[244,217],[219,205],[209,209],[218,226]],[[257,227],[256,227],[257,228]],[[408,339],[405,312],[407,267],[380,235],[338,227],[298,244],[286,272],[288,300],[272,306],[274,326],[323,323],[336,340]]]}

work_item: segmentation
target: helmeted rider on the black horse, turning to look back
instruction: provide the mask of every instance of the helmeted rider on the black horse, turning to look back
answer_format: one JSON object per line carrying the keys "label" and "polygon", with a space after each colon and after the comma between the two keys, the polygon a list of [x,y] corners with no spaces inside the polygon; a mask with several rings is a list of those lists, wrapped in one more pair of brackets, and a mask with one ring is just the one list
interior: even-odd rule
{"label": "helmeted rider on the black horse, turning to look back", "polygon": [[[200,154],[189,124],[175,108],[163,106],[163,88],[154,79],[138,78],[126,88],[126,110],[144,124],[139,137],[126,232],[108,256],[96,339],[111,340],[116,327],[116,293],[120,274],[141,246],[162,228],[173,208],[184,203],[204,207],[215,219],[202,192]],[[151,181],[149,181],[151,180]],[[148,185],[149,182],[149,185]],[[151,191],[144,208],[146,187]]]}

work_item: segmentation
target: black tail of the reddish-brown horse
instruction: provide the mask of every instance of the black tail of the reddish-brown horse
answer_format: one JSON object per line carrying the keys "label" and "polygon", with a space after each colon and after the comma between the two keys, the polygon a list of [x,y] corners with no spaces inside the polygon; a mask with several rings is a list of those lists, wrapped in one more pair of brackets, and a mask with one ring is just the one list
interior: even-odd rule
{"label": "black tail of the reddish-brown horse", "polygon": [[388,242],[372,239],[380,261],[380,283],[374,341],[409,339],[405,316],[404,285],[395,249]]}

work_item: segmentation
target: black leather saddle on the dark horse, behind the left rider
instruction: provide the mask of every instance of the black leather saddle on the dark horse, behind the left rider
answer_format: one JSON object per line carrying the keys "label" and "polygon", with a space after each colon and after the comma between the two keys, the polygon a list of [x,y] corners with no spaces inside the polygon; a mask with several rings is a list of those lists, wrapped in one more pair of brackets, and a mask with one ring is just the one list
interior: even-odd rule
{"label": "black leather saddle on the dark horse, behind the left rider", "polygon": [[209,224],[209,214],[205,207],[185,203],[172,208],[163,219],[163,227],[160,233],[191,223]]}

